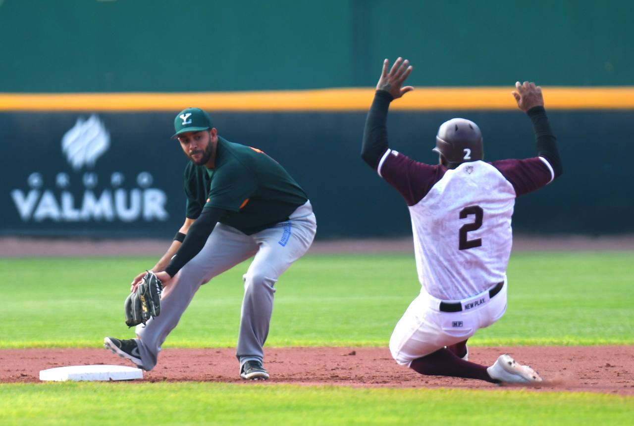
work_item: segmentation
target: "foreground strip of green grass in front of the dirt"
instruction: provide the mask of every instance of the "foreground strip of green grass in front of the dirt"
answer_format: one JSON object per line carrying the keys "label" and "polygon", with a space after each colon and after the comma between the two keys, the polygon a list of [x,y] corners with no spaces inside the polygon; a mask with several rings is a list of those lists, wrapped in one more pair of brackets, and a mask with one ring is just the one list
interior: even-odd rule
{"label": "foreground strip of green grass in front of the dirt", "polygon": [[3,425],[622,425],[633,416],[633,398],[588,393],[198,382],[0,385]]}

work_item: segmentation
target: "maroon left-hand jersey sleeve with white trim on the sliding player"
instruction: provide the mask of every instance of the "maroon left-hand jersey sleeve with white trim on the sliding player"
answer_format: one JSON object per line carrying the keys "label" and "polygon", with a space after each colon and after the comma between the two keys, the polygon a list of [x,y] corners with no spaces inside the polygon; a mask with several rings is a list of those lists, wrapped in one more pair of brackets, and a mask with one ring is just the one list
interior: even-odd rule
{"label": "maroon left-hand jersey sleeve with white trim on the sliding player", "polygon": [[418,163],[391,149],[378,163],[378,174],[401,193],[408,206],[422,200],[446,171],[444,166]]}

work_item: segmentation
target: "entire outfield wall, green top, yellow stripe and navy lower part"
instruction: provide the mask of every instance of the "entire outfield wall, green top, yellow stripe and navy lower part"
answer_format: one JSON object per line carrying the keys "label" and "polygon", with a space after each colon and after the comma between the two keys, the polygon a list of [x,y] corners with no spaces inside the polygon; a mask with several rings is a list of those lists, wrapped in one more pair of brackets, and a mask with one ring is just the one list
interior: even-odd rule
{"label": "entire outfield wall, green top, yellow stripe and navy lower part", "polygon": [[625,0],[0,0],[0,235],[171,237],[186,160],[168,136],[187,106],[280,161],[318,237],[408,235],[398,194],[359,159],[371,87],[397,56],[417,90],[392,107],[392,147],[435,163],[438,125],[464,116],[487,160],[533,156],[510,90],[534,80],[565,172],[519,199],[515,230],[633,233],[633,13]]}

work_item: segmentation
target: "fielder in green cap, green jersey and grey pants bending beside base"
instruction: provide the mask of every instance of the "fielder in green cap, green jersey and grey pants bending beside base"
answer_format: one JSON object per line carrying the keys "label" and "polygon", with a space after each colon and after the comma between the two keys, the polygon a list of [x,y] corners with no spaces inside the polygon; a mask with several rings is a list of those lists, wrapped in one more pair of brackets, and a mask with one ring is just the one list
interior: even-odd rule
{"label": "fielder in green cap, green jersey and grey pants bending beside base", "polygon": [[[243,379],[268,379],[262,346],[269,332],[280,275],[306,253],[316,220],[306,193],[259,149],[217,134],[209,114],[181,111],[176,134],[190,163],[184,172],[186,218],[167,253],[152,268],[163,282],[160,315],[136,327],[136,339],[106,337],[106,348],[144,370],[157,364],[161,345],[200,285],[254,256],[243,275],[236,357]],[[145,272],[132,282],[131,291]]]}

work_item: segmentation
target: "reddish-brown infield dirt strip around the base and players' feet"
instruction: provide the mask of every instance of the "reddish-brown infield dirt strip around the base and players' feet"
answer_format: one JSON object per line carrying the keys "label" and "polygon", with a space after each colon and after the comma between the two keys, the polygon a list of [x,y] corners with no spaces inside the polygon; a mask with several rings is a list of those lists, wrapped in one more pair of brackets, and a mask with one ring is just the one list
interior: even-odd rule
{"label": "reddish-brown infield dirt strip around the base and players' feet", "polygon": [[[491,365],[501,353],[532,365],[546,380],[536,391],[634,395],[634,346],[470,348]],[[136,382],[250,383],[238,377],[234,349],[165,349],[159,365]],[[66,365],[131,365],[106,349],[3,349],[0,382],[39,382],[39,371]],[[397,365],[387,348],[267,348],[269,384],[353,387],[497,389],[478,380],[422,376]]]}

